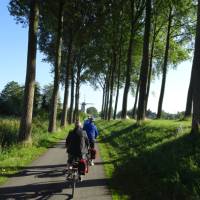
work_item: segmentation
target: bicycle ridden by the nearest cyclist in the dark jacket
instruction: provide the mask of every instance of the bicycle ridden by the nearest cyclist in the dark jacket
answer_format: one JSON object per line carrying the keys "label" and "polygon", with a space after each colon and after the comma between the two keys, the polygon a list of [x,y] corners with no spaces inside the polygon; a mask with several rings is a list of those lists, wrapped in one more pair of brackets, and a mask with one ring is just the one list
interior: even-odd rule
{"label": "bicycle ridden by the nearest cyclist in the dark jacket", "polygon": [[74,197],[76,183],[80,181],[80,174],[78,169],[79,163],[72,162],[72,164],[69,165],[68,169],[66,170],[66,180],[68,183],[68,186],[72,188],[72,198]]}

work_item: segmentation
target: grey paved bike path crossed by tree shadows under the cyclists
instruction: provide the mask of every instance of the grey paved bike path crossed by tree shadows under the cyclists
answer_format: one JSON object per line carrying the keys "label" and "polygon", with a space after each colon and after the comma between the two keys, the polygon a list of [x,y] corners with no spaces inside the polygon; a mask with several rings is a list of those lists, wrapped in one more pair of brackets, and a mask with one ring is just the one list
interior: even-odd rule
{"label": "grey paved bike path crossed by tree shadows under the cyclists", "polygon": [[[98,151],[98,147],[97,147]],[[0,186],[0,200],[66,200],[71,199],[71,189],[66,187],[63,170],[66,166],[67,154],[64,141],[50,148],[30,166],[13,175],[8,182]],[[78,183],[73,199],[111,200],[107,188],[103,163],[99,156],[91,166],[83,181]]]}

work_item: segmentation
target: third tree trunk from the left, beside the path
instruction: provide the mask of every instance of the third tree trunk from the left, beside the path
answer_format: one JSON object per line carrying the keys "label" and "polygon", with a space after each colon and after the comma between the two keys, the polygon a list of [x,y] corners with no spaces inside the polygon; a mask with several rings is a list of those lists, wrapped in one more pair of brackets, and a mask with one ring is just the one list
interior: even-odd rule
{"label": "third tree trunk from the left, beside the path", "polygon": [[64,102],[63,110],[61,116],[61,126],[65,127],[67,124],[67,109],[68,109],[68,96],[69,96],[69,74],[71,67],[71,51],[72,50],[72,35],[70,34],[68,56],[67,56],[67,65],[66,65],[66,75],[65,75],[65,92],[64,92]]}

